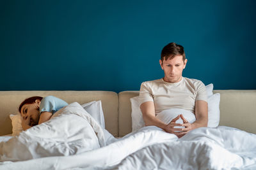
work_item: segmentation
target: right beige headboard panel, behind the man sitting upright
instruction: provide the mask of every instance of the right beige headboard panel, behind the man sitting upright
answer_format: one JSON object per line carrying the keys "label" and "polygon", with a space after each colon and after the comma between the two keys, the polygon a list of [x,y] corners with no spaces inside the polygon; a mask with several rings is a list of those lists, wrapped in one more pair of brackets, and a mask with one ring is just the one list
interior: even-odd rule
{"label": "right beige headboard panel, behind the man sitting upright", "polygon": [[[220,125],[236,127],[256,134],[256,90],[213,90],[220,93]],[[119,136],[131,132],[131,97],[138,91],[125,91],[118,94]]]}

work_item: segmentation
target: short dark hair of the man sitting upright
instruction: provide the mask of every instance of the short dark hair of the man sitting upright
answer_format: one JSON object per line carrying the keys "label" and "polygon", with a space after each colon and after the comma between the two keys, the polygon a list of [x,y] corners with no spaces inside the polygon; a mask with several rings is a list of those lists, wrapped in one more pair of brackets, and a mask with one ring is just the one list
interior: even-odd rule
{"label": "short dark hair of the man sitting upright", "polygon": [[176,55],[182,55],[183,61],[186,59],[183,46],[177,45],[176,43],[169,43],[164,46],[161,52],[161,60],[167,60],[168,58],[173,59]]}

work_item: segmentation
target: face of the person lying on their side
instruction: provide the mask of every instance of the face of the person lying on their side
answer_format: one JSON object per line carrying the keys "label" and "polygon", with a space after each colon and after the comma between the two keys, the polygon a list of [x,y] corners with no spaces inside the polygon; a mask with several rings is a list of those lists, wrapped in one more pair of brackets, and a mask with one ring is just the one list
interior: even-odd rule
{"label": "face of the person lying on their side", "polygon": [[24,104],[20,110],[21,117],[26,120],[30,119],[30,126],[34,126],[38,124],[39,121],[39,106],[40,102],[32,103],[32,104]]}

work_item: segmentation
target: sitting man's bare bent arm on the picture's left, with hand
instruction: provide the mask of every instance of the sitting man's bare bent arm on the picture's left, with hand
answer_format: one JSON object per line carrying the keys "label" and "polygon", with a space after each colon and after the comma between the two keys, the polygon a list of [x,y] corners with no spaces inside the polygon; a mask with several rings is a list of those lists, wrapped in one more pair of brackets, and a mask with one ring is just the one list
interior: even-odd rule
{"label": "sitting man's bare bent arm on the picture's left, with hand", "polygon": [[145,125],[155,125],[157,127],[160,127],[166,132],[176,134],[178,135],[179,133],[174,132],[174,131],[180,131],[180,129],[175,129],[173,128],[174,126],[181,126],[182,124],[175,124],[176,120],[180,118],[180,116],[174,118],[169,124],[164,124],[161,120],[156,118],[155,116],[155,106],[154,102],[152,101],[147,101],[145,103],[142,103],[140,105],[140,110],[143,115],[143,120],[145,122]]}

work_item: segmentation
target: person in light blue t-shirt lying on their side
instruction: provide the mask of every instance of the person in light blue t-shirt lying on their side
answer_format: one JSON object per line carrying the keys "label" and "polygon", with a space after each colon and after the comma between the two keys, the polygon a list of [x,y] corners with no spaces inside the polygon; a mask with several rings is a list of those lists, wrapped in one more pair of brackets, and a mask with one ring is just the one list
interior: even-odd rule
{"label": "person in light blue t-shirt lying on their side", "polygon": [[19,106],[24,130],[49,120],[56,111],[68,103],[54,96],[34,96],[25,99]]}

